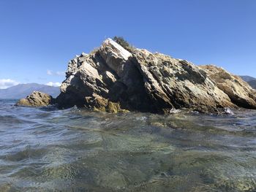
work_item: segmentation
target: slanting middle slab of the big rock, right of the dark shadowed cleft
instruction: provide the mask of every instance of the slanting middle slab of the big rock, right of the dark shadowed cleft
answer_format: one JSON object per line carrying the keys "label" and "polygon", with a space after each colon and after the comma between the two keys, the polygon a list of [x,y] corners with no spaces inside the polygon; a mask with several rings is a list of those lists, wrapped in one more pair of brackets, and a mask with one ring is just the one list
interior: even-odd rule
{"label": "slanting middle slab of the big rock, right of the dark shadowed cleft", "polygon": [[236,107],[204,70],[188,61],[147,50],[137,50],[134,58],[143,74],[147,93],[154,97],[153,103],[161,106],[163,112],[170,111],[172,107],[200,112],[218,112],[218,108]]}

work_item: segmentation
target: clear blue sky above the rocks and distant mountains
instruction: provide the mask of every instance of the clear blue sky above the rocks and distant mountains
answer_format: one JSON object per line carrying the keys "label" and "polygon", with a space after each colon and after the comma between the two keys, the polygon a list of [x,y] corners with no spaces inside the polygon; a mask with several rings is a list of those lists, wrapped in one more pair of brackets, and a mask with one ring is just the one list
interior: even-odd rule
{"label": "clear blue sky above the rocks and distant mountains", "polygon": [[0,0],[0,29],[2,83],[61,82],[71,58],[115,35],[256,76],[255,0]]}

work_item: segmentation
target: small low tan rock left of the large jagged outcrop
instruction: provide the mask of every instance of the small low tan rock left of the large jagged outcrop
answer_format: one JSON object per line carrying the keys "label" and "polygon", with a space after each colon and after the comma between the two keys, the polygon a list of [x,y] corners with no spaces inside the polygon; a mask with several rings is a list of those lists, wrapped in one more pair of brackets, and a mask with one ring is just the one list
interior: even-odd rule
{"label": "small low tan rock left of the large jagged outcrop", "polygon": [[31,107],[42,107],[54,104],[55,99],[46,93],[34,91],[31,95],[27,96],[26,99],[20,99],[17,106],[31,106]]}

